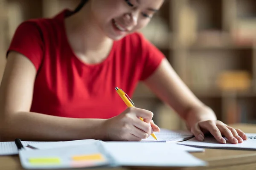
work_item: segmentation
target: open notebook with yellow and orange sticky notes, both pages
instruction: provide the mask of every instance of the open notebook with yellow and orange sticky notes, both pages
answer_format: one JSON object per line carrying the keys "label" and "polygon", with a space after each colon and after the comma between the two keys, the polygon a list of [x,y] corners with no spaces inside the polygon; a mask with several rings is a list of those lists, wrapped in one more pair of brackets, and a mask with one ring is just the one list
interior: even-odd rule
{"label": "open notebook with yellow and orange sticky notes, both pages", "polygon": [[[77,142],[77,141],[75,141]],[[70,142],[69,142],[70,143]],[[49,145],[50,143],[48,143]],[[26,169],[54,169],[74,167],[198,167],[202,161],[166,142],[102,142],[84,140],[82,143],[52,143],[52,147],[38,150],[21,150],[20,161]],[[37,144],[46,145],[46,144]],[[61,145],[61,146],[60,146]]]}

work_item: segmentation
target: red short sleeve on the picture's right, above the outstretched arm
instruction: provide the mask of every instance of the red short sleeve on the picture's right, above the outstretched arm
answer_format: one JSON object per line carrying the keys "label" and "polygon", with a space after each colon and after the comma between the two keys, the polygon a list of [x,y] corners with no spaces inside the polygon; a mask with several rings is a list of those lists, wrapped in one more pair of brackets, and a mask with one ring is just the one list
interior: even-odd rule
{"label": "red short sleeve on the picture's right, above the outstretched arm", "polygon": [[140,80],[145,80],[158,68],[165,55],[142,34],[140,34],[143,65]]}

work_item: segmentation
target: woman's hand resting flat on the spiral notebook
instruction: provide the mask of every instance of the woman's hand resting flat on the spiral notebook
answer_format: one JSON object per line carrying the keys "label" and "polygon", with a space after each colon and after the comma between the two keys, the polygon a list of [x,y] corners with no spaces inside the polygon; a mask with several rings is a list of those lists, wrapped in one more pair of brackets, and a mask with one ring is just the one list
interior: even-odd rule
{"label": "woman's hand resting flat on the spiral notebook", "polygon": [[199,141],[204,140],[204,134],[209,132],[220,143],[226,143],[226,140],[222,137],[224,135],[230,143],[237,144],[242,143],[243,140],[247,140],[246,134],[240,129],[234,129],[221,121],[207,120],[196,123],[191,127],[191,132],[195,135]]}

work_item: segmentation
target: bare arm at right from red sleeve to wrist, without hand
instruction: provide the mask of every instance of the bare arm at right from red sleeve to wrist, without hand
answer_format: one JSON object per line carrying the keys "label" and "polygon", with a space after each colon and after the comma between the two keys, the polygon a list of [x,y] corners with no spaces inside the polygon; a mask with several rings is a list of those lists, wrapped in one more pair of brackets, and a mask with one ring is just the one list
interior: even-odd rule
{"label": "bare arm at right from red sleeve to wrist, without hand", "polygon": [[183,119],[190,111],[207,107],[189,90],[166,59],[144,82]]}

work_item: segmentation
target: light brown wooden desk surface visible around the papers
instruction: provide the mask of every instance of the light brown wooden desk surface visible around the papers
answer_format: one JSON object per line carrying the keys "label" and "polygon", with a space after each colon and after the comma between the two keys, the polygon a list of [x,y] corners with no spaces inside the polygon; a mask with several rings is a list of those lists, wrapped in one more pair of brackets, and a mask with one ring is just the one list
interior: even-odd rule
{"label": "light brown wooden desk surface visible around the papers", "polygon": [[[256,133],[256,125],[231,125],[245,133]],[[254,170],[256,169],[256,151],[206,149],[204,153],[192,153],[199,159],[207,161],[208,167],[189,168],[153,168],[153,167],[122,167],[104,168],[104,170]],[[0,170],[23,170],[18,156],[0,156]]]}

